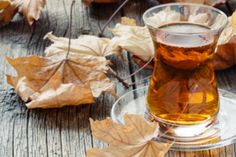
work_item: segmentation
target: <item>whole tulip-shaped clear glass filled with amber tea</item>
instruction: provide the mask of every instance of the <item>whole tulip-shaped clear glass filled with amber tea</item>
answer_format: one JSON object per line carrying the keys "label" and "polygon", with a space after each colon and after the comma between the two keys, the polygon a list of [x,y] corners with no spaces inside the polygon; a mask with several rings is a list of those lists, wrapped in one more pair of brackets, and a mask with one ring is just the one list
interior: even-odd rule
{"label": "whole tulip-shaped clear glass filled with amber tea", "polygon": [[155,46],[149,117],[169,137],[203,134],[219,112],[213,55],[227,16],[206,5],[170,3],[147,10],[143,19]]}

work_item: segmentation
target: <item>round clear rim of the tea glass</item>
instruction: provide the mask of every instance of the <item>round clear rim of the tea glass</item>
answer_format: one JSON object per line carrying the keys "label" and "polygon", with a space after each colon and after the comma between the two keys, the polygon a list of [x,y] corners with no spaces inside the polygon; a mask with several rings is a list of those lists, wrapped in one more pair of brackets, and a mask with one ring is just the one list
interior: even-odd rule
{"label": "round clear rim of the tea glass", "polygon": [[[207,31],[197,32],[197,33],[189,33],[189,32],[188,33],[184,33],[184,32],[180,33],[180,32],[172,32],[172,31],[168,31],[168,30],[161,30],[160,27],[156,28],[156,27],[153,27],[153,26],[148,24],[148,22],[147,22],[147,20],[148,20],[147,19],[147,14],[149,12],[151,12],[151,11],[153,11],[155,9],[158,9],[158,8],[169,7],[169,6],[178,6],[178,5],[179,6],[180,5],[184,5],[184,6],[199,6],[199,7],[207,8],[209,10],[213,10],[213,11],[217,12],[218,14],[220,14],[220,15],[222,15],[224,17],[224,23],[219,28],[217,28],[217,29],[210,29],[210,30],[207,30]],[[182,35],[187,35],[187,34],[191,35],[191,34],[201,34],[201,33],[209,33],[209,32],[210,33],[217,33],[220,30],[223,30],[224,27],[228,24],[228,17],[227,17],[227,15],[223,11],[221,11],[220,9],[214,8],[212,6],[209,6],[209,5],[198,4],[198,3],[167,3],[167,4],[157,5],[157,6],[154,6],[154,7],[151,7],[149,9],[147,9],[144,12],[142,18],[143,18],[143,21],[144,21],[145,25],[148,28],[153,28],[155,30],[159,30],[159,31],[163,31],[163,32],[168,32],[168,33],[171,33],[171,34],[179,34],[179,35],[181,35],[181,34]]]}

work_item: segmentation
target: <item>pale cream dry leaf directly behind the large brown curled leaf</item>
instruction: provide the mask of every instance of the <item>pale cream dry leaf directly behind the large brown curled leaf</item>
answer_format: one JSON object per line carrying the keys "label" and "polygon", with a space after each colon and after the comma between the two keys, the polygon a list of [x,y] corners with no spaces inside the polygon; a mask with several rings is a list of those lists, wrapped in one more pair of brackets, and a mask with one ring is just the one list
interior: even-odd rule
{"label": "pale cream dry leaf directly behind the large brown curled leaf", "polygon": [[[69,39],[56,37],[51,32],[45,38],[53,42],[46,50],[47,56],[59,52],[67,52]],[[109,56],[118,53],[119,48],[115,47],[110,39],[99,38],[92,35],[82,35],[78,39],[71,39],[70,53],[93,56]]]}

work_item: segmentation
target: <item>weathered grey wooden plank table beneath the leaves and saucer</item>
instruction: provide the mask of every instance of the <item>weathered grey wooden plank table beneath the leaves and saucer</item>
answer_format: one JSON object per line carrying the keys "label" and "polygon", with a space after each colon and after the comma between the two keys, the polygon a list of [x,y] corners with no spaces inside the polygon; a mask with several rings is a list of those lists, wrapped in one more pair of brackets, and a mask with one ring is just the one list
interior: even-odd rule
{"label": "weathered grey wooden plank table beneath the leaves and saucer", "polygon": [[[40,20],[32,27],[18,16],[12,23],[0,29],[0,157],[84,157],[88,148],[106,146],[91,136],[88,119],[104,119],[109,116],[115,101],[109,94],[102,95],[93,105],[28,110],[5,80],[4,73],[14,74],[6,63],[5,56],[43,55],[45,47],[50,44],[48,40],[43,40],[43,36],[50,31],[57,36],[69,36],[70,4],[71,0],[47,0]],[[141,21],[142,13],[155,4],[155,0],[133,0],[112,20],[109,27],[119,22],[121,16],[134,17]],[[231,1],[230,5],[233,8],[236,3]],[[94,5],[88,9],[77,0],[75,8],[72,28],[74,38],[83,33],[97,34],[112,11],[117,8],[117,4]],[[225,10],[224,7],[223,9]],[[105,35],[111,36],[107,31]],[[124,56],[129,61],[110,58],[113,68],[120,76],[127,76],[137,69],[130,61],[129,54]],[[138,73],[129,81],[138,82],[148,73],[150,71]],[[217,72],[217,80],[220,88],[236,92],[235,67]],[[117,84],[118,95],[128,90]],[[236,147],[231,145],[201,152],[170,151],[168,156],[234,157],[235,150]]]}

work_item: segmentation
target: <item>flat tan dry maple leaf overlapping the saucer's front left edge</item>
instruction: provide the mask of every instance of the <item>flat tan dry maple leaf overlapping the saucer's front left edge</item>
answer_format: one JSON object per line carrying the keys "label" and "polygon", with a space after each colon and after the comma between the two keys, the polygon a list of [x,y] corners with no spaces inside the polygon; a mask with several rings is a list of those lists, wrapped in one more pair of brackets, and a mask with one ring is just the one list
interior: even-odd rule
{"label": "flat tan dry maple leaf overlapping the saucer's front left edge", "polygon": [[90,120],[93,136],[109,144],[108,148],[88,150],[87,157],[164,157],[172,144],[154,141],[157,123],[147,123],[142,116],[125,115],[124,125],[107,118]]}

